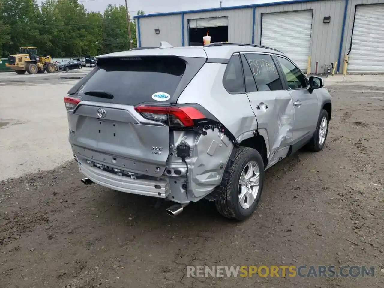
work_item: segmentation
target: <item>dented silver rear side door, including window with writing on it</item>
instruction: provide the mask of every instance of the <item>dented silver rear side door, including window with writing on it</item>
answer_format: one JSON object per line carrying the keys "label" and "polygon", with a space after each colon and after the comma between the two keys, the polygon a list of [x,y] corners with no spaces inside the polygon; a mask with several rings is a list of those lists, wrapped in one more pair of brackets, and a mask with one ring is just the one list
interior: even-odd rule
{"label": "dented silver rear side door, including window with writing on it", "polygon": [[245,53],[242,59],[246,80],[252,81],[253,76],[257,85],[257,91],[247,91],[247,95],[256,115],[258,131],[267,138],[268,161],[271,163],[285,157],[292,144],[292,98],[283,88],[283,80],[271,55]]}

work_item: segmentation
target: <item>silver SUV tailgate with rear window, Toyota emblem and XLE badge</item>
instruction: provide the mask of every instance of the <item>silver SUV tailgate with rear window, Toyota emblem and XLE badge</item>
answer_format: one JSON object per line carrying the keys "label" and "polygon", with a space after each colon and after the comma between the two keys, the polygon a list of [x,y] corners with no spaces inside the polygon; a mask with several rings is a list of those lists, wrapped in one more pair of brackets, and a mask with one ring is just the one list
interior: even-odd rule
{"label": "silver SUV tailgate with rear window, Toyota emblem and XLE badge", "polygon": [[[137,104],[170,104],[206,59],[175,56],[100,59],[70,91],[81,101],[68,111],[73,151],[90,161],[159,176],[169,154],[164,114],[139,114]],[[68,108],[67,108],[68,109]],[[146,118],[146,116],[148,116]],[[165,118],[164,118],[165,117]],[[155,120],[155,121],[153,121]]]}

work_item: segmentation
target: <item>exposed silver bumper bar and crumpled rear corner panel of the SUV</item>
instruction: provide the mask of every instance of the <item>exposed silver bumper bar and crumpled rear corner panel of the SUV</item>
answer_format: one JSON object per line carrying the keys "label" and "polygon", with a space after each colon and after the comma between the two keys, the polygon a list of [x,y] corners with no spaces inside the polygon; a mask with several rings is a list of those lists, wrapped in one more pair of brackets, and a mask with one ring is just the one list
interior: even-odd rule
{"label": "exposed silver bumper bar and crumpled rear corner panel of the SUV", "polygon": [[[79,171],[104,187],[179,204],[207,197],[221,182],[233,143],[219,129],[208,129],[205,136],[194,131],[172,131],[170,139],[172,144],[164,173],[161,167],[156,170],[159,164],[114,157],[76,145],[72,145],[72,149]],[[179,145],[190,147],[190,156],[185,162],[177,155]],[[134,166],[135,169],[130,169]]]}

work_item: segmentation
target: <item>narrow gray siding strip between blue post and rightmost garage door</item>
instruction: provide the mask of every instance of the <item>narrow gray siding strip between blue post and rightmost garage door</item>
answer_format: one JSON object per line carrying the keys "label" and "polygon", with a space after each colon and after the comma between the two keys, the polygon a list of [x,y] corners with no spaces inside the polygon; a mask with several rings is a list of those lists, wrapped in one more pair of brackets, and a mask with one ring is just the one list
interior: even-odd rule
{"label": "narrow gray siding strip between blue post and rightmost garage door", "polygon": [[[339,70],[340,73],[343,71],[344,56],[349,52],[349,48],[351,47],[352,30],[353,30],[353,22],[355,17],[356,5],[379,4],[379,3],[384,3],[384,0],[350,0],[348,2],[347,17],[345,20],[345,28],[344,28],[343,48],[341,49],[340,70]],[[380,48],[378,47],[378,49]]]}

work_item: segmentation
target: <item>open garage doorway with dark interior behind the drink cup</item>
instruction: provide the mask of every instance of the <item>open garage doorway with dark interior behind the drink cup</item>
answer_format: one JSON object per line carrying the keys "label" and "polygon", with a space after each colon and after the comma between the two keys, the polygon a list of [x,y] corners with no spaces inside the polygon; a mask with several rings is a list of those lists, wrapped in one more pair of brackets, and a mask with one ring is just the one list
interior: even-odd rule
{"label": "open garage doorway with dark interior behind the drink cup", "polygon": [[189,46],[203,46],[207,32],[211,43],[228,42],[228,17],[200,18],[189,20]]}

